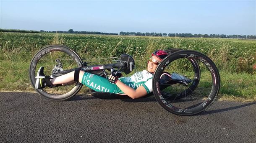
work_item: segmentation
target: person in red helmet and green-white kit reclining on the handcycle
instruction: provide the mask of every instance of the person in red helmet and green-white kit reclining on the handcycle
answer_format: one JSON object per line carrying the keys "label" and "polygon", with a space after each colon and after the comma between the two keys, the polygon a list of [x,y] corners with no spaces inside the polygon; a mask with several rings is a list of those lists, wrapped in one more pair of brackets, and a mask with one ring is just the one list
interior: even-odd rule
{"label": "person in red helmet and green-white kit reclining on the handcycle", "polygon": [[[66,84],[74,81],[80,82],[97,92],[110,92],[115,94],[126,94],[132,99],[143,97],[153,91],[152,77],[157,69],[157,65],[168,55],[163,50],[157,50],[152,53],[149,59],[147,70],[136,72],[131,77],[116,77],[110,74],[109,78],[91,74],[85,71],[72,71],[60,77],[53,79],[37,79],[35,88],[43,89],[55,84]],[[44,67],[40,67],[37,76],[44,76]],[[76,75],[75,75],[76,74]],[[76,78],[78,77],[78,78]]]}

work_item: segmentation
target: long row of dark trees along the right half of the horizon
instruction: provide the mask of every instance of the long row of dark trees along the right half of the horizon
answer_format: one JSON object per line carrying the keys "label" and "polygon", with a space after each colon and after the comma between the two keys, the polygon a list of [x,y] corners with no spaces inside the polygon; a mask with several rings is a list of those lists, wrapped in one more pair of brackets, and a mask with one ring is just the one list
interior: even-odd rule
{"label": "long row of dark trees along the right half of the horizon", "polygon": [[[130,35],[130,36],[167,36],[167,33],[141,33],[141,32],[123,32],[119,35]],[[169,33],[170,37],[196,37],[196,38],[239,38],[239,39],[256,39],[255,35],[226,35],[226,34],[191,34],[191,33]]]}

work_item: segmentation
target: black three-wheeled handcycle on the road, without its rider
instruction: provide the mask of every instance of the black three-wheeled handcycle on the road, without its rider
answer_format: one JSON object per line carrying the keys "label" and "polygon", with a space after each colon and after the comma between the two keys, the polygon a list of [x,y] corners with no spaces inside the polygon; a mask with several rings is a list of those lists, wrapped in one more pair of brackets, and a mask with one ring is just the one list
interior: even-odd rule
{"label": "black three-wheeled handcycle on the road, without its rider", "polygon": [[[169,55],[159,64],[153,76],[153,93],[159,104],[177,115],[194,115],[206,110],[219,92],[220,77],[214,63],[204,54],[180,49],[166,50]],[[77,68],[107,77],[109,72],[131,73],[135,67],[133,58],[122,54],[114,64],[89,65],[67,46],[46,46],[33,57],[29,66],[29,78],[35,85],[36,72],[44,66],[44,74],[51,78]],[[43,97],[63,101],[76,95],[82,84],[75,82],[54,88],[35,89]]]}

